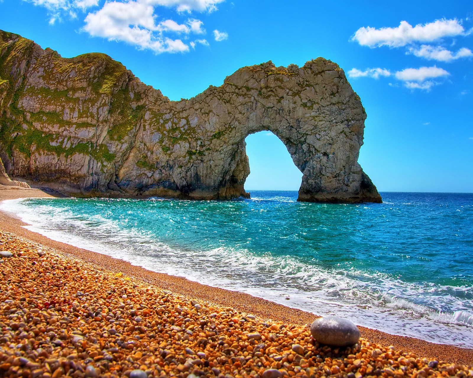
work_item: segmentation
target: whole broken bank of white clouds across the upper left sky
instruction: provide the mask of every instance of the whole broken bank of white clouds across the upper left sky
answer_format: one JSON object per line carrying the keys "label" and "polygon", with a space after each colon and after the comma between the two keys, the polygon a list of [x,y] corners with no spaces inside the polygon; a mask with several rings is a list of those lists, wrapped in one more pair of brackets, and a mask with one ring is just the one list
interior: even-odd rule
{"label": "whole broken bank of white clouds across the upper left sky", "polygon": [[[204,35],[203,22],[189,17],[192,12],[213,12],[223,0],[113,0],[105,1],[98,7],[99,0],[24,0],[48,10],[50,23],[68,17],[77,17],[77,12],[86,12],[82,31],[94,37],[109,41],[120,41],[136,46],[141,50],[163,52],[188,52],[196,44],[209,45],[206,39],[190,42],[193,35]],[[158,7],[174,9],[178,17],[187,18],[176,22],[171,18],[158,20]],[[162,13],[162,12],[159,12]],[[187,16],[185,16],[187,15]],[[216,41],[228,38],[227,33],[215,30]]]}

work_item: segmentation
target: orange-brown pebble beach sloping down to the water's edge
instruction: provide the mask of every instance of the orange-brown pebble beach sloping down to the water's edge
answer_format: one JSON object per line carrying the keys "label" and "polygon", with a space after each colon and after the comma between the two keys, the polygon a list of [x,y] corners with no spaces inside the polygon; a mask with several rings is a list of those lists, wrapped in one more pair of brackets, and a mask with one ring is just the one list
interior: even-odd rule
{"label": "orange-brown pebble beach sloping down to the water's edge", "polygon": [[364,327],[358,344],[329,347],[311,336],[314,314],[68,248],[20,223],[0,222],[1,376],[473,376],[470,349]]}

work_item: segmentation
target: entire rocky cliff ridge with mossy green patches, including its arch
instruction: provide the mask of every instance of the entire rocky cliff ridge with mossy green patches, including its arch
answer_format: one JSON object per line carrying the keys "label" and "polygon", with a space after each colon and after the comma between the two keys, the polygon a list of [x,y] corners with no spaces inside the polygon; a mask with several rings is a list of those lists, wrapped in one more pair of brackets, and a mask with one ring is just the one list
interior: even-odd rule
{"label": "entire rocky cliff ridge with mossy green patches, including its arch", "polygon": [[358,164],[366,113],[318,58],[238,69],[169,101],[105,54],[61,58],[0,31],[0,157],[32,185],[74,196],[248,196],[248,134],[270,130],[303,172],[299,200],[380,202]]}

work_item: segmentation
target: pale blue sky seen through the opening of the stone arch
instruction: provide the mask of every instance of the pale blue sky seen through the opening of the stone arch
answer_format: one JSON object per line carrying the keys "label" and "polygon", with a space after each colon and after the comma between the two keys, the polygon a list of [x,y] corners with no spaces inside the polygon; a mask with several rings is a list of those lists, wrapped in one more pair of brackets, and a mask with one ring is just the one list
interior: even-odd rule
{"label": "pale blue sky seen through the opening of the stone arch", "polygon": [[299,190],[302,172],[294,165],[287,147],[271,131],[245,138],[250,174],[245,190]]}

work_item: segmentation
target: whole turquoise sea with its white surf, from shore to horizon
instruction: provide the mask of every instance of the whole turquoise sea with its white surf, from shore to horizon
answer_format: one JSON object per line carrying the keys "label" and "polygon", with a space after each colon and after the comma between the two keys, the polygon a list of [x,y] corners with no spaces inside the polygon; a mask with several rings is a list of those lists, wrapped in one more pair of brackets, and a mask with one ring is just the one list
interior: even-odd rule
{"label": "whole turquoise sea with its white surf, from shore to horizon", "polygon": [[53,239],[316,314],[473,347],[473,194],[384,203],[23,199],[1,209]]}

